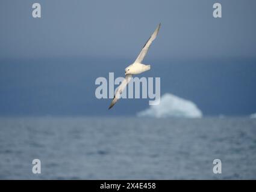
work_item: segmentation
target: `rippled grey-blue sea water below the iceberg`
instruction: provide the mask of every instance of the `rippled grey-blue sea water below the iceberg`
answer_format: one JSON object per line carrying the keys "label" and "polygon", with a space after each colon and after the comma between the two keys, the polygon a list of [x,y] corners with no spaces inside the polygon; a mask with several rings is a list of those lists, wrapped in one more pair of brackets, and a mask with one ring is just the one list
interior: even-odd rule
{"label": "rippled grey-blue sea water below the iceberg", "polygon": [[256,119],[0,118],[0,131],[0,179],[256,179]]}

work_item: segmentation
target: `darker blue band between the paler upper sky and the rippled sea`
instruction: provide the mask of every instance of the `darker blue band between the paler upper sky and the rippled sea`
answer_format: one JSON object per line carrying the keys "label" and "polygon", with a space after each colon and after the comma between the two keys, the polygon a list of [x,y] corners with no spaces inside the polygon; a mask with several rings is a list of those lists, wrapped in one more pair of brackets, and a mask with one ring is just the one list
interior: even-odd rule
{"label": "darker blue band between the paler upper sky and the rippled sea", "polygon": [[[109,80],[110,72],[123,77],[133,59],[0,59],[0,116],[134,116],[149,107],[149,98],[125,99],[107,110],[111,98],[95,97],[95,80]],[[204,116],[256,113],[256,58],[145,63],[152,64],[151,70],[136,77],[160,77],[161,95],[193,101]]]}

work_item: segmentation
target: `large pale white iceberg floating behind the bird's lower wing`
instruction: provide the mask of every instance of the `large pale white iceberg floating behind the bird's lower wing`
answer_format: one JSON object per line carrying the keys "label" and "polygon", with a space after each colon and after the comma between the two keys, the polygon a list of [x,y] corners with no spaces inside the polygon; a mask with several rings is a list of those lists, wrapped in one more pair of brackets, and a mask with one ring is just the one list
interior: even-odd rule
{"label": "large pale white iceberg floating behind the bird's lower wing", "polygon": [[137,116],[201,118],[202,112],[192,101],[166,93],[161,96],[160,104],[150,106],[148,109],[137,113]]}

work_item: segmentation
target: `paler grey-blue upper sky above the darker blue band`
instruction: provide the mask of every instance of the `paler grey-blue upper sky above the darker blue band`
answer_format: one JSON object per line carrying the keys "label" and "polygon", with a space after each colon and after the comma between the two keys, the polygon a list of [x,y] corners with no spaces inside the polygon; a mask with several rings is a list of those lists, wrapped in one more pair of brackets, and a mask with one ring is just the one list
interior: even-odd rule
{"label": "paler grey-blue upper sky above the darker blue band", "polygon": [[[31,16],[32,4],[42,18]],[[222,4],[214,19],[213,4]],[[0,2],[0,59],[136,58],[162,23],[147,58],[255,57],[256,1]]]}

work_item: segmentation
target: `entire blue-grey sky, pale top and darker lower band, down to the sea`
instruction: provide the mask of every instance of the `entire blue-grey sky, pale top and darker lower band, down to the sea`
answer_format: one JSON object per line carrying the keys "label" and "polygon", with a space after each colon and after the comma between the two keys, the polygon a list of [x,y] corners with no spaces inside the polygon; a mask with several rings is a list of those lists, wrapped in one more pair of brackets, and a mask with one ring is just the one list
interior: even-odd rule
{"label": "entire blue-grey sky, pale top and darker lower band, down to the sea", "polygon": [[[32,17],[39,2],[42,18]],[[213,4],[222,18],[213,18]],[[256,112],[255,0],[1,0],[0,115],[135,115],[148,100],[95,97],[95,79],[123,76],[158,23],[146,77],[204,115]]]}

